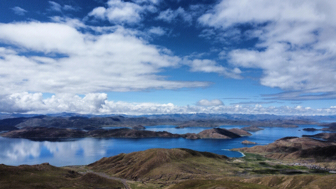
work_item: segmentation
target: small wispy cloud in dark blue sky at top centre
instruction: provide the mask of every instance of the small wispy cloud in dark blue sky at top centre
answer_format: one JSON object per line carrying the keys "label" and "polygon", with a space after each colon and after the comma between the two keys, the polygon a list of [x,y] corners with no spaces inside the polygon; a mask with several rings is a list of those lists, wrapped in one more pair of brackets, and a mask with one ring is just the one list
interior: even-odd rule
{"label": "small wispy cloud in dark blue sky at top centre", "polygon": [[186,12],[182,7],[179,7],[176,10],[172,10],[169,8],[165,11],[160,12],[160,14],[156,17],[156,19],[158,20],[163,20],[169,23],[176,21],[177,18],[182,19],[183,21],[190,24],[193,20],[192,15]]}

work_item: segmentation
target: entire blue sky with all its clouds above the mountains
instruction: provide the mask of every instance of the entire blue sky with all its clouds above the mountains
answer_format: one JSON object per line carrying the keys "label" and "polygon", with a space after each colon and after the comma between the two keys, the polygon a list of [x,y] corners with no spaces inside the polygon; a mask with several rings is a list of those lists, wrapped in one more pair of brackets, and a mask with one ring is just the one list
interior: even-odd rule
{"label": "entire blue sky with all its clouds above the mountains", "polygon": [[1,1],[0,112],[336,114],[332,1]]}

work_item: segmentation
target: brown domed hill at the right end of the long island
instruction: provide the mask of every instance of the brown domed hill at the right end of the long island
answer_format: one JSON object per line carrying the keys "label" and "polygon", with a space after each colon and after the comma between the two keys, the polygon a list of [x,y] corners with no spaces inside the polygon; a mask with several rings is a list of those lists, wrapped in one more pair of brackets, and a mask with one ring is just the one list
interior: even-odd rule
{"label": "brown domed hill at the right end of the long island", "polygon": [[197,134],[201,138],[232,139],[239,138],[240,135],[223,128],[212,128],[201,131]]}

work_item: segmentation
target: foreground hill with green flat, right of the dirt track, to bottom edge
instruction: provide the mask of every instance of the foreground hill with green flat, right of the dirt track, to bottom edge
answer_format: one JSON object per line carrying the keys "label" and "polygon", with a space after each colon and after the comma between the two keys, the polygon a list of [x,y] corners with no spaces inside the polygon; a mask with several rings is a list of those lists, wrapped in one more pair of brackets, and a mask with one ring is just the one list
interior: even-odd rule
{"label": "foreground hill with green flat, right of the dirt track, to bottom edge", "polygon": [[102,158],[87,168],[131,180],[134,188],[332,189],[336,180],[336,175],[328,176],[327,172],[316,173],[315,169],[280,164],[250,153],[242,158],[227,158],[178,148],[119,154]]}

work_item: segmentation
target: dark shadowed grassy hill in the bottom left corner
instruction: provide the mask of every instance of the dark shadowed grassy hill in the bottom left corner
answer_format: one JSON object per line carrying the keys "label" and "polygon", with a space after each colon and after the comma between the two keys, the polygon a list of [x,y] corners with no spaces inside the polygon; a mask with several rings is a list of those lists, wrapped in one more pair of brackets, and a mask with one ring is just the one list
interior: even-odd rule
{"label": "dark shadowed grassy hill in the bottom left corner", "polygon": [[48,163],[40,165],[8,166],[0,164],[0,189],[31,188],[100,188],[120,189],[124,185],[116,180],[94,174],[81,174],[55,167]]}

